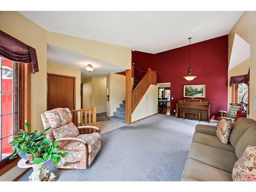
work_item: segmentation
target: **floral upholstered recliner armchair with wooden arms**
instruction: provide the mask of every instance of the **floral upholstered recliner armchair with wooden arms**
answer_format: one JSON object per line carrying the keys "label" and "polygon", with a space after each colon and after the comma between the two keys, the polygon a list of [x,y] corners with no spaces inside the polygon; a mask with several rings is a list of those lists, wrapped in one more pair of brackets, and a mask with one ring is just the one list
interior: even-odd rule
{"label": "floral upholstered recliner armchair with wooden arms", "polygon": [[[41,114],[44,129],[51,127],[47,138],[59,141],[59,152],[69,152],[55,167],[63,169],[87,169],[100,150],[100,131],[96,126],[76,127],[68,108],[57,108]],[[96,132],[79,135],[79,130]]]}

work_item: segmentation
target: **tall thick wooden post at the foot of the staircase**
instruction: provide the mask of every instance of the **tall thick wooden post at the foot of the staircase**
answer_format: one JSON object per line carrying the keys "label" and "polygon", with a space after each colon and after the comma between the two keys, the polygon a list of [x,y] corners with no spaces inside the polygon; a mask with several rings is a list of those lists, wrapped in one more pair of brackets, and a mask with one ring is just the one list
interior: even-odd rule
{"label": "tall thick wooden post at the foot of the staircase", "polygon": [[132,121],[132,70],[126,70],[125,76],[125,121],[130,124]]}

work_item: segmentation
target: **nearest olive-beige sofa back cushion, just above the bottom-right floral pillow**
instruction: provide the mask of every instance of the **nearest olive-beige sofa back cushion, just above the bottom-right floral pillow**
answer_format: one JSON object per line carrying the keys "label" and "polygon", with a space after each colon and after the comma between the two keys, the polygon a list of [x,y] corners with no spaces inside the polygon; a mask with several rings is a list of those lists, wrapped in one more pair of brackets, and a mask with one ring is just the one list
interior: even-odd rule
{"label": "nearest olive-beige sofa back cushion, just above the bottom-right floral pillow", "polygon": [[236,145],[237,158],[240,158],[249,144],[256,144],[256,126],[251,126],[238,140]]}

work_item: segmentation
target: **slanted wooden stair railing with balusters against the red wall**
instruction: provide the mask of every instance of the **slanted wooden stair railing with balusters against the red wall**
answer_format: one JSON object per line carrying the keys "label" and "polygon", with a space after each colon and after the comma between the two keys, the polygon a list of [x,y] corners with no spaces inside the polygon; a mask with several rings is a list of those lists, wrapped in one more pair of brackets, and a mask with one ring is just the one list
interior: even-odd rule
{"label": "slanted wooden stair railing with balusters against the red wall", "polygon": [[132,91],[132,113],[134,112],[136,106],[139,104],[140,100],[142,99],[151,84],[157,84],[157,72],[148,68],[147,73],[138,83],[136,88]]}

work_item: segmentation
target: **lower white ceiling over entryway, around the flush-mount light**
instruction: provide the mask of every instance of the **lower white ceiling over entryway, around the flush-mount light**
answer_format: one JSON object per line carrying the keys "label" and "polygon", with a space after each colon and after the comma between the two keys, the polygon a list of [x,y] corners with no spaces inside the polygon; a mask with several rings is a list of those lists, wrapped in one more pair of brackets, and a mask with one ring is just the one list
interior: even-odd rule
{"label": "lower white ceiling over entryway, around the flush-mount light", "polygon": [[[47,61],[59,63],[60,65],[76,67],[81,69],[81,77],[106,76],[109,73],[124,71],[125,69],[115,66],[86,55],[81,55],[73,51],[60,48],[54,45],[47,45]],[[89,73],[84,66],[92,64],[94,70]]]}

